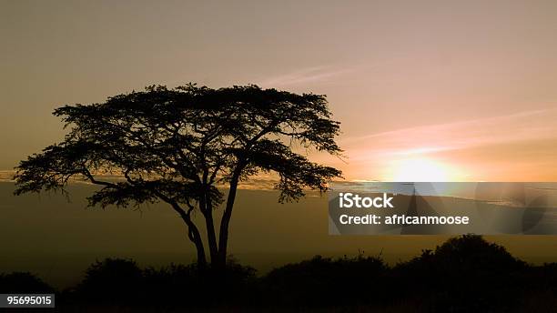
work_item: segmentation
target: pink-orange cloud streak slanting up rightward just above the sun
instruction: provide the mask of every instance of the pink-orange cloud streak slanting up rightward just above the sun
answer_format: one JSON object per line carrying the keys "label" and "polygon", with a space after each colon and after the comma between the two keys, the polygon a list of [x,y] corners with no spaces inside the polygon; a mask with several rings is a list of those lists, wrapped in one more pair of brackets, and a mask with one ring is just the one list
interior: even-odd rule
{"label": "pink-orange cloud streak slanting up rightward just above the sun", "polygon": [[418,126],[342,140],[354,157],[370,152],[384,155],[420,155],[533,140],[557,139],[557,108],[524,111],[448,124]]}

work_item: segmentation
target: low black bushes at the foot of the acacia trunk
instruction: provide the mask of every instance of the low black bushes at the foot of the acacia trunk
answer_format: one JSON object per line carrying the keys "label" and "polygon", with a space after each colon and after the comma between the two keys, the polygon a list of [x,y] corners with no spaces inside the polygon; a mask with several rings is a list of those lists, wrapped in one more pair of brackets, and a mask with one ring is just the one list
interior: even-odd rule
{"label": "low black bushes at the foot of the acacia trunk", "polygon": [[86,269],[86,277],[68,298],[104,305],[218,305],[246,298],[254,279],[254,268],[234,260],[228,260],[227,270],[222,272],[200,268],[197,263],[142,269],[134,260],[106,258]]}

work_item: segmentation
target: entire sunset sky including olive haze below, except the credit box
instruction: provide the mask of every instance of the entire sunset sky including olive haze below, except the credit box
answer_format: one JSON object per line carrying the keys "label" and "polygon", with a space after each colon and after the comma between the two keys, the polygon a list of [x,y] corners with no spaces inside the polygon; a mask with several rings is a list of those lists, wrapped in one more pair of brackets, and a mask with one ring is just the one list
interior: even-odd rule
{"label": "entire sunset sky including olive haze below, except the credit box", "polygon": [[[68,202],[5,182],[63,139],[56,107],[189,82],[327,95],[346,157],[309,157],[348,180],[557,182],[555,0],[0,0],[0,272],[69,286],[102,257],[193,259],[164,204],[86,210],[85,184]],[[394,264],[447,238],[329,236],[327,197],[246,190],[268,183],[242,186],[230,228],[231,253],[259,270],[360,249]],[[489,239],[557,260],[557,237]]]}

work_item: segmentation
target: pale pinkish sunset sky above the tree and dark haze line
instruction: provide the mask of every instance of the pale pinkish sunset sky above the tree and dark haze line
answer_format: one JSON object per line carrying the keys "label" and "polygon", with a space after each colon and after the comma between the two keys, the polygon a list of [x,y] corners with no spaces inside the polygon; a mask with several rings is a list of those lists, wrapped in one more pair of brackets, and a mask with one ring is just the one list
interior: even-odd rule
{"label": "pale pinkish sunset sky above the tree and dark haze line", "polygon": [[0,1],[0,170],[57,106],[144,86],[325,94],[349,180],[556,181],[555,1]]}

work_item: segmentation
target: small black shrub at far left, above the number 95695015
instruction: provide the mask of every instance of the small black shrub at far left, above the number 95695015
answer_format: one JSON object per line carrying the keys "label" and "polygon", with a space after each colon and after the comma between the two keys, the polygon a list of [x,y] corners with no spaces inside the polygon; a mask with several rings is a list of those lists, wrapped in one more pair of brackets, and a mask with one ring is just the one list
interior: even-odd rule
{"label": "small black shrub at far left, above the number 95695015", "polygon": [[0,274],[0,293],[53,293],[50,287],[41,278],[28,272],[13,272]]}

